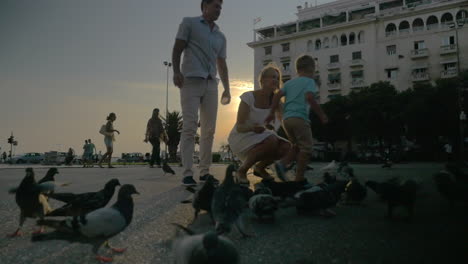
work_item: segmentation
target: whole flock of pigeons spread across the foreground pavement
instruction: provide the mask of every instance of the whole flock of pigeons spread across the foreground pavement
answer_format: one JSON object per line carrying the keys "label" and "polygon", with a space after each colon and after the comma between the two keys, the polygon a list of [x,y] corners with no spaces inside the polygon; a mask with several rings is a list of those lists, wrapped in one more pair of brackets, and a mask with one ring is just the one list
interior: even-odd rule
{"label": "whole flock of pigeons spread across the foreground pavement", "polygon": [[[368,195],[368,189],[386,203],[385,217],[395,219],[394,209],[403,207],[408,222],[414,216],[417,193],[421,183],[412,179],[394,177],[388,180],[366,181],[361,183],[354,169],[347,163],[335,161],[320,168],[322,180],[316,184],[302,185],[296,182],[276,182],[262,180],[249,186],[236,181],[238,165],[228,165],[221,183],[210,176],[197,187],[187,187],[193,194],[189,203],[194,209],[194,219],[206,211],[211,219],[210,231],[196,234],[189,227],[173,223],[177,235],[172,242],[173,263],[240,263],[240,255],[235,244],[226,236],[232,230],[244,238],[255,237],[251,220],[259,223],[274,222],[275,213],[287,207],[295,207],[298,215],[334,217],[331,208],[346,205],[360,205]],[[51,168],[39,181],[32,168],[19,186],[8,192],[15,195],[19,207],[19,225],[9,237],[20,236],[26,218],[36,219],[39,229],[33,232],[31,241],[41,243],[48,240],[64,240],[92,245],[92,253],[100,262],[112,262],[113,258],[99,254],[105,246],[115,253],[123,253],[124,248],[113,248],[109,239],[118,235],[130,225],[134,203],[132,195],[139,194],[135,186],[123,184],[118,179],[110,179],[101,190],[86,193],[57,192],[57,186],[66,186],[55,181],[58,174]],[[168,172],[168,171],[165,171]],[[446,169],[433,176],[435,185],[450,205],[468,204],[468,180],[466,173],[456,164],[447,164]],[[107,206],[116,188],[117,200]],[[63,203],[51,208],[49,199]],[[382,212],[383,214],[383,212]],[[45,232],[45,227],[52,229]]]}

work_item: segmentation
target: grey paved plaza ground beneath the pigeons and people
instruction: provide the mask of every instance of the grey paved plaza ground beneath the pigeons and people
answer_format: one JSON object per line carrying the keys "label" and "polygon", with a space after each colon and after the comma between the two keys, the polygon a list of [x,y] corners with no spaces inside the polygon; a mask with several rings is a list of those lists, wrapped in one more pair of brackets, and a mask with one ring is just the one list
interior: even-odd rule
{"label": "grey paved plaza ground beneath the pigeons and people", "polygon": [[[316,168],[307,175],[318,182],[317,168],[325,163],[312,163]],[[393,176],[414,178],[422,183],[416,202],[415,217],[411,223],[384,218],[386,206],[375,193],[361,206],[339,205],[336,217],[298,216],[294,208],[280,209],[274,223],[251,220],[255,237],[242,238],[237,230],[228,237],[237,246],[241,263],[468,263],[468,213],[466,207],[451,208],[437,193],[432,175],[442,164],[396,164],[392,169],[380,165],[351,164],[362,181],[383,181]],[[47,167],[33,166],[36,179]],[[19,184],[24,177],[24,166],[0,166],[0,262],[21,263],[98,263],[86,244],[65,241],[31,243],[35,220],[27,219],[23,236],[7,238],[18,224],[19,209],[8,188]],[[173,166],[176,176],[164,175],[158,168],[146,166],[119,166],[115,169],[78,168],[59,166],[58,182],[70,182],[61,187],[64,192],[87,192],[102,188],[111,178],[122,184],[135,185],[141,195],[134,196],[133,222],[121,234],[111,239],[115,247],[127,247],[123,254],[112,254],[113,263],[171,263],[171,241],[175,228],[171,223],[189,225],[197,232],[213,229],[207,214],[190,224],[193,209],[180,201],[190,193],[180,186],[182,168]],[[214,165],[212,173],[224,177],[226,165]],[[249,176],[253,183],[258,179]],[[117,190],[118,191],[118,190]],[[115,197],[111,201],[115,200]],[[52,207],[61,203],[52,201]],[[397,215],[406,211],[397,210]],[[48,229],[50,230],[50,229]],[[109,255],[101,249],[102,255]]]}

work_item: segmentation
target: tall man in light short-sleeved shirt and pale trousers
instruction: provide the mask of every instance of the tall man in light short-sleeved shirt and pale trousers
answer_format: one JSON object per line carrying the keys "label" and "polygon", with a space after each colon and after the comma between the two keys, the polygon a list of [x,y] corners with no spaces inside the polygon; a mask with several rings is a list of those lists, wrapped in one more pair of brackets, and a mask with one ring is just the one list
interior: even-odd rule
{"label": "tall man in light short-sleeved shirt and pale trousers", "polygon": [[[180,88],[183,128],[180,139],[183,185],[196,184],[193,179],[193,152],[200,111],[200,181],[209,175],[213,138],[218,112],[219,72],[224,86],[222,103],[231,100],[228,69],[226,65],[226,37],[215,24],[221,14],[222,0],[202,0],[202,15],[185,17],[179,26],[172,65],[174,84]],[[180,57],[184,52],[182,70]]]}

